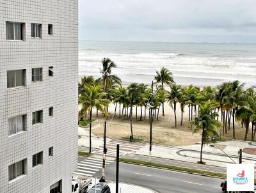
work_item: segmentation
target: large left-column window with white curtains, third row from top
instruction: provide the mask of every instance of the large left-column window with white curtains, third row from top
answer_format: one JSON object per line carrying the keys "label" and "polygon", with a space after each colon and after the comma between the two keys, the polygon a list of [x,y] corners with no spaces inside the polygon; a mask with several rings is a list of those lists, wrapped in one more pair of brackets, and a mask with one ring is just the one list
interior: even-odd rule
{"label": "large left-column window with white curtains, third row from top", "polygon": [[15,116],[8,119],[8,135],[26,130],[26,115]]}

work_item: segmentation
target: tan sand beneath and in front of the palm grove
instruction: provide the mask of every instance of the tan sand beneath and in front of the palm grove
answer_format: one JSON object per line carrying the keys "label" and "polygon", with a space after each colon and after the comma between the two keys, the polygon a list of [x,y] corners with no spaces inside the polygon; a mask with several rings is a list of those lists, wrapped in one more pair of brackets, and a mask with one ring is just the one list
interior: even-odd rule
{"label": "tan sand beneath and in front of the palm grove", "polygon": [[[130,127],[130,120],[126,120],[124,118],[119,118],[119,107],[116,109],[116,116],[113,116],[115,112],[115,105],[111,104],[109,106],[109,118],[106,120],[103,114],[99,113],[98,118],[96,117],[96,111],[93,111],[93,122],[92,132],[97,136],[103,135],[103,123],[107,121],[107,135],[108,137],[113,138],[121,138],[121,137],[129,137],[131,135],[131,127]],[[121,110],[122,111],[122,110]],[[133,134],[134,137],[140,137],[148,141],[149,139],[149,128],[150,124],[148,121],[148,109],[147,109],[147,116],[146,120],[144,117],[142,121],[140,121],[140,108],[138,107],[138,120],[136,121],[135,115],[135,107],[133,109]],[[122,112],[121,112],[122,113]],[[179,105],[177,105],[177,128],[175,128],[175,119],[174,119],[174,112],[172,107],[166,102],[164,104],[164,115],[162,116],[162,111],[159,111],[159,120],[154,120],[153,122],[153,143],[154,144],[163,144],[168,146],[182,146],[182,145],[190,145],[200,142],[201,140],[201,133],[193,134],[193,130],[186,121],[188,121],[188,108],[185,109],[183,114],[183,125],[180,125],[180,117],[181,111]],[[143,109],[143,116],[144,116],[144,109]],[[241,128],[241,125],[236,123],[236,139],[243,140],[244,139],[244,128]],[[250,130],[252,131],[252,130]],[[248,139],[250,139],[250,131],[248,134]],[[232,127],[228,130],[227,134],[224,134],[224,137],[227,139],[232,139]]]}

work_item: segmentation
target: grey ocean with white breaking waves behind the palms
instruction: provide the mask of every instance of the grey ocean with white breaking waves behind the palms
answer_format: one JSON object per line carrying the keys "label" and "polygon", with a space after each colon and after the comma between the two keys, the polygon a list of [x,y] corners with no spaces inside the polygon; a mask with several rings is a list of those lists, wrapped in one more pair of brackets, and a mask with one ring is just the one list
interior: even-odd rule
{"label": "grey ocean with white breaking waves behind the palms", "polygon": [[123,82],[150,84],[164,66],[181,85],[256,85],[256,44],[79,41],[79,75],[100,77],[102,58],[116,63]]}

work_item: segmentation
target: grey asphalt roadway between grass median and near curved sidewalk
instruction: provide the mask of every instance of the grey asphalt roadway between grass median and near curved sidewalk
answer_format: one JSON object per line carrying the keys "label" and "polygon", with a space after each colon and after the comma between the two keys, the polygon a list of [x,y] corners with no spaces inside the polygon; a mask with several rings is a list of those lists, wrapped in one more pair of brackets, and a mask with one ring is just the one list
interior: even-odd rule
{"label": "grey asphalt roadway between grass median and near curved sidewalk", "polygon": [[[86,157],[78,157],[79,164],[88,162]],[[100,162],[100,160],[95,160]],[[97,166],[97,162],[90,162],[86,167]],[[99,163],[98,163],[99,164]],[[95,167],[93,167],[95,168]],[[101,169],[96,168],[97,171],[92,176],[101,177]],[[115,181],[115,162],[109,162],[106,166],[106,179],[108,181]],[[125,183],[131,183],[148,187],[156,190],[159,193],[221,193],[221,180],[217,178],[208,178],[205,176],[198,176],[193,174],[179,173],[175,171],[168,171],[164,169],[156,169],[152,167],[136,166],[132,164],[120,163],[119,179]]]}

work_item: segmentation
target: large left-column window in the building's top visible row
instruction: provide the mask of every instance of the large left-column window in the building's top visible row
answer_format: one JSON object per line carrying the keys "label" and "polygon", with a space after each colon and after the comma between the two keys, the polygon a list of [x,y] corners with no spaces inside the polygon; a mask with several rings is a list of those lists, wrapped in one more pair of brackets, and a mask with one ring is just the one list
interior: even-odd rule
{"label": "large left-column window in the building's top visible row", "polygon": [[24,40],[24,30],[24,23],[6,22],[6,40]]}

